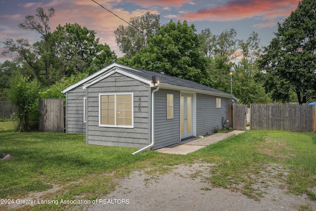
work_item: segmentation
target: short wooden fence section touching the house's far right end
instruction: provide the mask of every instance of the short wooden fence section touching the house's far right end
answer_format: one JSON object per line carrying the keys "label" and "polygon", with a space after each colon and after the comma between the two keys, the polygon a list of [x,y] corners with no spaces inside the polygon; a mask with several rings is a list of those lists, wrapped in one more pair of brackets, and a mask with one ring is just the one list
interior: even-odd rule
{"label": "short wooden fence section touching the house's far right end", "polygon": [[233,128],[236,130],[246,130],[247,123],[247,105],[233,105]]}

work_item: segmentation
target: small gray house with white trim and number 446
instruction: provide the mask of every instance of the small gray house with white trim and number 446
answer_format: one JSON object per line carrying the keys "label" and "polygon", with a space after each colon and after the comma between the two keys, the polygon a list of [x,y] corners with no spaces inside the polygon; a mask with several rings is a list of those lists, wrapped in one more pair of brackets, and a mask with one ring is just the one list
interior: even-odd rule
{"label": "small gray house with white trim and number 446", "polygon": [[63,90],[66,131],[86,143],[159,149],[223,127],[233,95],[112,63]]}

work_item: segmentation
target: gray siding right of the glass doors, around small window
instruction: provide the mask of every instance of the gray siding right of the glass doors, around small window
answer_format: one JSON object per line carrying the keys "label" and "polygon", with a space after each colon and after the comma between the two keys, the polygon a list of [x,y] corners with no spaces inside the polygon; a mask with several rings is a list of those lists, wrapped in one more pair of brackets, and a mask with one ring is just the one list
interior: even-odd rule
{"label": "gray siding right of the glass doors, around small window", "polygon": [[230,98],[221,98],[221,108],[216,108],[216,96],[197,94],[197,136],[214,133],[222,128],[223,117],[228,119]]}

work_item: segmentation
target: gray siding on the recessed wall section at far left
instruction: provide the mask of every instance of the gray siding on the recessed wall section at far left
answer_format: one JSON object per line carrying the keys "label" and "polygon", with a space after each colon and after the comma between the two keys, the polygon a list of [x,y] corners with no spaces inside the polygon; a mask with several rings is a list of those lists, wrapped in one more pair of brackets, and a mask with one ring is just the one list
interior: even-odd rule
{"label": "gray siding on the recessed wall section at far left", "polygon": [[85,134],[85,123],[83,123],[83,97],[85,90],[79,86],[66,94],[66,132]]}

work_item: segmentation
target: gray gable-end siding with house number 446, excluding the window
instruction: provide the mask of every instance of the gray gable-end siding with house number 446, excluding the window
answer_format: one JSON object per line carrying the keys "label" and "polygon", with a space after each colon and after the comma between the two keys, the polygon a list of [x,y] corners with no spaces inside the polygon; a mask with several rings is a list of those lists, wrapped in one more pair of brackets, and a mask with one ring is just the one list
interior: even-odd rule
{"label": "gray gable-end siding with house number 446, excluding the window", "polygon": [[[99,127],[99,93],[133,92],[134,128]],[[142,148],[149,139],[150,87],[137,80],[115,73],[87,87],[88,144]]]}

